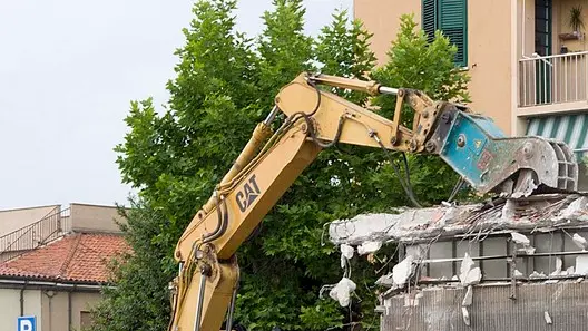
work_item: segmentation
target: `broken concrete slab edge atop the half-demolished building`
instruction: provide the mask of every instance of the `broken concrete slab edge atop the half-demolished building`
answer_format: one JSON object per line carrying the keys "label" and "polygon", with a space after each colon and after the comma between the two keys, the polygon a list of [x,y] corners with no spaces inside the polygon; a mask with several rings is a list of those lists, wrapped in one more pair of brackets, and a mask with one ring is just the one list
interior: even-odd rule
{"label": "broken concrete slab edge atop the half-demolished building", "polygon": [[491,204],[361,214],[333,221],[329,225],[329,236],[334,244],[361,245],[364,242],[409,243],[473,231],[588,225],[587,205],[588,198],[584,194],[547,194]]}

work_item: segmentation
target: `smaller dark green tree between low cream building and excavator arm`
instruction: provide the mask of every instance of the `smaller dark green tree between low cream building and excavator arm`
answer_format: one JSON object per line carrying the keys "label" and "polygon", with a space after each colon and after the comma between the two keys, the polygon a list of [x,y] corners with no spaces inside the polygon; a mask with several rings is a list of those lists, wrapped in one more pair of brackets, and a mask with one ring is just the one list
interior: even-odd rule
{"label": "smaller dark green tree between low cream building and excavator arm", "polygon": [[131,201],[130,210],[120,210],[127,220],[122,226],[133,252],[112,261],[111,283],[105,288],[104,300],[92,310],[95,323],[89,330],[166,330],[169,299],[165,288],[161,261],[167,259],[165,243],[154,241],[168,221],[144,202]]}

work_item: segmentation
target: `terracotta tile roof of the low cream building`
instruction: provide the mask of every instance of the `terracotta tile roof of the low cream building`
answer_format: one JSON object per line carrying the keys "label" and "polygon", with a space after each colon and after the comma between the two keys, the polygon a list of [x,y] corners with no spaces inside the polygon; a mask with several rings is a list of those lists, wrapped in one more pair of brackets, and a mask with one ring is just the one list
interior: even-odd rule
{"label": "terracotta tile roof of the low cream building", "polygon": [[71,234],[0,264],[0,278],[105,283],[107,261],[128,250],[121,235]]}

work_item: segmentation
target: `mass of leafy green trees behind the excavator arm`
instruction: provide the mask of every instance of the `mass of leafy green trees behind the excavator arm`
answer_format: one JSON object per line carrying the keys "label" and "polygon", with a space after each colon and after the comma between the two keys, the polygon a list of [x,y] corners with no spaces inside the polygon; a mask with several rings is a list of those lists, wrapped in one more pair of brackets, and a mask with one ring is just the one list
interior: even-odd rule
{"label": "mass of leafy green trees behind the excavator arm", "polygon": [[[402,19],[390,61],[375,68],[371,35],[346,11],[336,11],[312,38],[304,32],[302,1],[274,0],[263,14],[262,35],[248,38],[235,31],[235,0],[197,1],[184,30],[186,42],[176,51],[176,77],[167,84],[168,107],[159,114],[151,99],[131,103],[126,118],[130,130],[116,152],[124,182],[139,189],[140,203],[128,215],[126,230],[135,254],[115,269],[118,286],[105,292],[94,331],[165,330],[166,285],[176,272],[171,256],[179,235],[271,109],[277,90],[301,71],[361,79],[372,72],[390,86],[467,98],[467,76],[451,64],[455,49],[441,35],[428,45],[411,17]],[[366,105],[364,94],[333,91]],[[372,103],[388,116],[394,100]],[[362,271],[354,274],[365,310],[354,304],[350,312],[318,298],[323,285],[342,275],[336,247],[321,245],[321,240],[330,221],[409,204],[389,157],[374,148],[336,146],[304,171],[266,215],[258,235],[239,249],[237,321],[248,330],[324,330],[361,314],[373,321],[374,288],[367,284],[379,274],[369,271],[372,262],[352,265]],[[454,179],[447,167],[412,157],[410,166],[423,202],[447,197]],[[386,249],[381,254],[378,269],[393,255]]]}

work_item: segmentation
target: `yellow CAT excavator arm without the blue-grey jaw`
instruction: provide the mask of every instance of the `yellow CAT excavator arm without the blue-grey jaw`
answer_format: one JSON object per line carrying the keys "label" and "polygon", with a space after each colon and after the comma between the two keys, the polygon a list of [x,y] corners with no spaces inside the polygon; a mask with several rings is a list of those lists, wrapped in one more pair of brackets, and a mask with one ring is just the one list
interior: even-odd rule
{"label": "yellow CAT excavator arm without the blue-grey jaw", "polygon": [[422,116],[418,130],[410,130],[322,91],[316,84],[371,94],[384,90],[374,82],[306,74],[282,88],[275,104],[287,116],[285,123],[271,137],[270,120],[256,127],[210,201],[178,241],[175,257],[180,272],[171,283],[169,330],[219,330],[238,280],[235,252],[323,148],[336,142],[414,153],[424,149],[437,114],[428,98],[413,97],[411,105],[420,107],[419,116],[427,111],[431,116]]}

